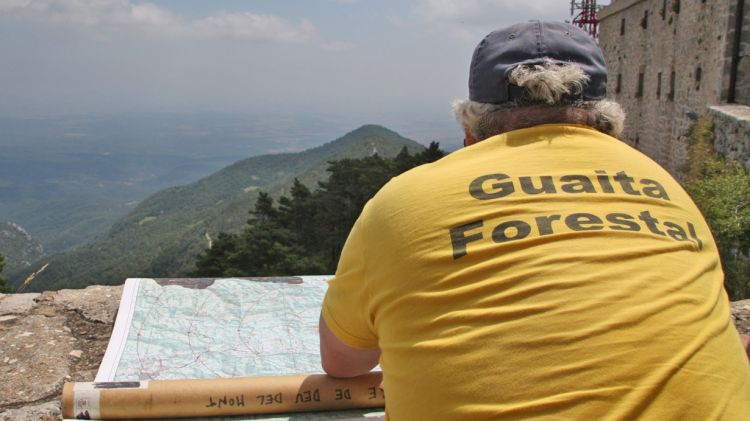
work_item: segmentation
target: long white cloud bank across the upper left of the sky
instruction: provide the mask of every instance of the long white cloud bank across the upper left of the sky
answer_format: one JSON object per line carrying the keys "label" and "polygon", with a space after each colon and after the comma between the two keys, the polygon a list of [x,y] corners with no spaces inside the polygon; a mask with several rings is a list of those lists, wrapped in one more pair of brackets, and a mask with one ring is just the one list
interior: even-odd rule
{"label": "long white cloud bank across the upper left of the sky", "polygon": [[306,19],[293,22],[250,12],[218,12],[190,19],[154,3],[130,0],[2,0],[0,19],[63,26],[97,37],[138,34],[164,38],[305,42],[317,35],[315,26]]}

